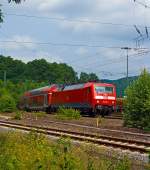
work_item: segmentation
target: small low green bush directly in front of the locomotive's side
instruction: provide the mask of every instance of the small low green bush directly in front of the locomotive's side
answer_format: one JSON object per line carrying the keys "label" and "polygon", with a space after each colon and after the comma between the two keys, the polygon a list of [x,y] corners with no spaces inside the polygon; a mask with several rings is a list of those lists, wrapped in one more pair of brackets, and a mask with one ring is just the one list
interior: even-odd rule
{"label": "small low green bush directly in front of the locomotive's side", "polygon": [[79,110],[65,109],[64,107],[60,107],[56,117],[58,119],[79,119],[81,115]]}

